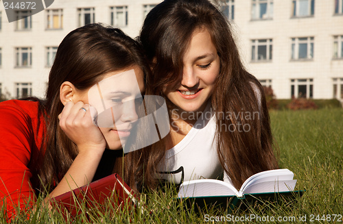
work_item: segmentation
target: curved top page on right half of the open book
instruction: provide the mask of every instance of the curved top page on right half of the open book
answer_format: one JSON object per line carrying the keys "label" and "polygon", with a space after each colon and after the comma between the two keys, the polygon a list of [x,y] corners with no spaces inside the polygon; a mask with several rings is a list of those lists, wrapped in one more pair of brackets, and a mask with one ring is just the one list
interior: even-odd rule
{"label": "curved top page on right half of the open book", "polygon": [[242,184],[240,191],[244,191],[249,185],[258,184],[261,182],[269,182],[275,180],[292,180],[294,173],[289,169],[276,169],[270,171],[263,171],[252,175]]}

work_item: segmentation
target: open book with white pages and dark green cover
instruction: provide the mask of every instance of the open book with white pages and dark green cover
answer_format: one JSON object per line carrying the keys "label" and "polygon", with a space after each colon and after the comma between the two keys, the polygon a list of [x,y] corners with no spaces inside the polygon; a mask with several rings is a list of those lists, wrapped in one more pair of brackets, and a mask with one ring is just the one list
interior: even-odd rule
{"label": "open book with white pages and dark green cover", "polygon": [[[293,177],[294,173],[288,169],[263,171],[246,179],[239,190],[218,179],[196,179],[180,185],[178,199],[195,200],[198,206],[209,203],[239,206],[241,203],[257,200],[271,201],[279,195],[294,197],[296,179]],[[298,194],[302,195],[303,192]]]}

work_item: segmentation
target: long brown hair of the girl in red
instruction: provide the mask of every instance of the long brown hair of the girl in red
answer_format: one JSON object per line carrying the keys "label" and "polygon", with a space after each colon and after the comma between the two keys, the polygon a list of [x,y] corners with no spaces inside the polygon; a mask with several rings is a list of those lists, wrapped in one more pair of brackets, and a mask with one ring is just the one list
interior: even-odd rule
{"label": "long brown hair of the girl in red", "polygon": [[[49,73],[46,100],[41,103],[47,128],[41,147],[41,151],[46,149],[45,156],[37,166],[39,180],[33,181],[39,190],[57,185],[78,155],[76,145],[64,134],[58,121],[64,107],[60,101],[61,84],[69,81],[78,90],[86,90],[106,73],[134,65],[140,66],[146,76],[149,67],[142,52],[139,43],[120,29],[101,24],[75,29],[62,40]],[[120,173],[121,169],[115,167]]]}

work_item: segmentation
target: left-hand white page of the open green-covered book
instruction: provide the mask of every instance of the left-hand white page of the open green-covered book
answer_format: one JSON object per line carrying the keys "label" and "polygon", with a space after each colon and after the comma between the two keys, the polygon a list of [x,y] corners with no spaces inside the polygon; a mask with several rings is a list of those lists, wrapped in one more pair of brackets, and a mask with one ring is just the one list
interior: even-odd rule
{"label": "left-hand white page of the open green-covered book", "polygon": [[183,182],[178,197],[237,195],[236,188],[218,179],[196,179]]}

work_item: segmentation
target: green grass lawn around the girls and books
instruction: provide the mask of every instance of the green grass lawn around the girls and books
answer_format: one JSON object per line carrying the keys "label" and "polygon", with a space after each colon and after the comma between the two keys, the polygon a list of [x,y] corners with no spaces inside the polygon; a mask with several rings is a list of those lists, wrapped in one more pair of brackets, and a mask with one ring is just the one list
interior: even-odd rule
{"label": "green grass lawn around the girls and books", "polygon": [[[80,216],[74,221],[66,221],[54,210],[38,208],[29,211],[29,219],[26,214],[21,214],[13,223],[213,223],[205,221],[205,214],[209,219],[215,219],[215,216],[220,219],[220,216],[227,214],[239,217],[253,214],[261,219],[281,217],[290,220],[277,223],[300,223],[299,217],[306,215],[307,223],[311,223],[311,218],[314,223],[327,223],[322,219],[324,215],[327,221],[331,218],[330,223],[342,223],[343,217],[337,222],[339,216],[333,222],[333,214],[343,215],[343,110],[272,111],[270,117],[280,151],[279,165],[294,172],[295,179],[298,179],[296,190],[306,190],[303,197],[296,201],[250,206],[246,211],[209,208],[195,212],[194,208],[184,209],[173,200],[177,190],[169,186],[164,191],[142,196],[145,201],[143,214],[128,209],[118,210],[108,203],[106,212],[86,212],[82,208]],[[5,222],[2,214],[0,223]],[[259,222],[255,219],[250,223]]]}

